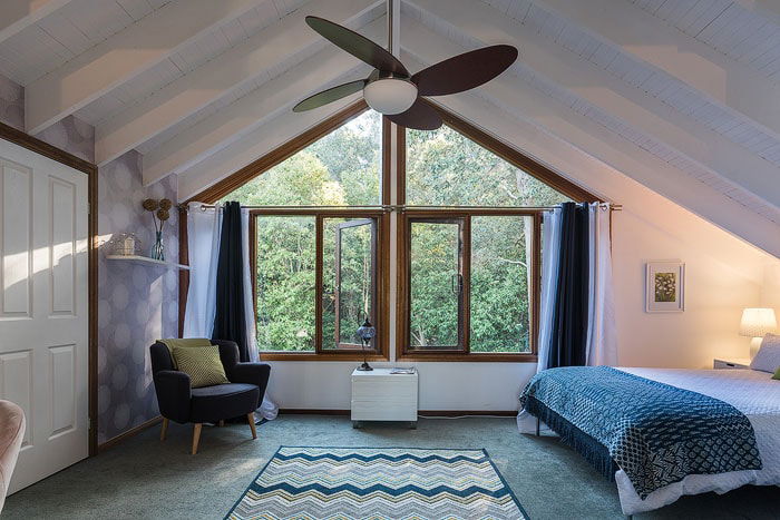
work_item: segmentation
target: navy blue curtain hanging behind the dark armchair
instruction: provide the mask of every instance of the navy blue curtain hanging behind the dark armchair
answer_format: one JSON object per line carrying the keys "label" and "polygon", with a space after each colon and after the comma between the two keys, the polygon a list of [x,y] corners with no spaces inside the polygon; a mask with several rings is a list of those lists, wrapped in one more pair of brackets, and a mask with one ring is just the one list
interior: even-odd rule
{"label": "navy blue curtain hanging behind the dark armchair", "polygon": [[216,314],[212,340],[230,340],[238,345],[242,362],[250,361],[244,313],[244,252],[241,205],[226,203],[222,214],[220,256],[216,269]]}

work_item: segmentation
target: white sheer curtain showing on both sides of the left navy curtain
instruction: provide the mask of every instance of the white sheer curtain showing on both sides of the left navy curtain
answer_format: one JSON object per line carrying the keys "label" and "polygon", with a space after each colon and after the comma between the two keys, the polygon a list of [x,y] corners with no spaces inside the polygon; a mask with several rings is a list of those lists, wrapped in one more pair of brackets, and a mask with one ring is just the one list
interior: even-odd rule
{"label": "white sheer curtain showing on both sides of the left navy curtain", "polygon": [[[205,207],[203,203],[189,203],[187,208],[187,245],[189,252],[189,291],[184,314],[184,337],[212,337],[216,314],[216,268],[222,233],[221,208]],[[254,302],[252,297],[252,271],[250,268],[250,214],[241,212],[244,232],[244,314],[246,315],[246,339],[250,345],[250,361],[257,361],[257,344],[254,324]],[[276,418],[279,406],[267,396],[263,398],[257,413],[267,420]]]}

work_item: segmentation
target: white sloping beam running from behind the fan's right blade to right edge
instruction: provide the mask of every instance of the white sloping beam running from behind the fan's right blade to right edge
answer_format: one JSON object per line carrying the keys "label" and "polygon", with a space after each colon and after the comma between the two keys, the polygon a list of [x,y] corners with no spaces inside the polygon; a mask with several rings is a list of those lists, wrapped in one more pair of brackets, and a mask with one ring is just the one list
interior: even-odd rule
{"label": "white sloping beam running from behind the fan's right blade to right edge", "polygon": [[[574,52],[550,45],[549,40],[493,9],[468,0],[450,0],[446,8],[435,0],[411,0],[423,11],[457,27],[486,45],[511,43],[521,49],[520,61],[579,99],[621,119],[644,136],[676,149],[699,166],[751,192],[780,209],[777,168],[748,149],[711,131],[696,120],[674,110]],[[411,48],[423,47],[432,38],[430,29],[416,21],[403,33]]]}

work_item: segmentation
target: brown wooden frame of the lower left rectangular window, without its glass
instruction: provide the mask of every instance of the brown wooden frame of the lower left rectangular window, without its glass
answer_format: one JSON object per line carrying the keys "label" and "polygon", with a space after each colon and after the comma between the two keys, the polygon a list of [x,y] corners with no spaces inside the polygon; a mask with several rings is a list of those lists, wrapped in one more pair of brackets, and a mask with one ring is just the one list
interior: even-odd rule
{"label": "brown wooden frame of the lower left rectangular window, without its glass", "polygon": [[[367,356],[372,361],[387,361],[389,353],[389,326],[387,302],[389,300],[389,213],[382,209],[359,209],[359,208],[322,208],[322,209],[294,209],[294,208],[263,208],[250,210],[250,263],[252,272],[257,272],[257,249],[256,249],[256,219],[261,216],[310,216],[315,218],[315,284],[314,284],[314,351],[308,352],[282,352],[263,351],[261,357],[266,361],[358,361],[363,359],[362,350],[359,349],[323,349],[322,337],[322,278],[323,278],[323,229],[326,218],[370,218],[376,222],[377,233],[373,244],[376,268],[373,269],[373,314],[376,316],[374,326],[379,333],[374,339],[374,349],[367,351]],[[252,277],[254,310],[257,310],[256,276]],[[256,316],[255,316],[256,321]]]}

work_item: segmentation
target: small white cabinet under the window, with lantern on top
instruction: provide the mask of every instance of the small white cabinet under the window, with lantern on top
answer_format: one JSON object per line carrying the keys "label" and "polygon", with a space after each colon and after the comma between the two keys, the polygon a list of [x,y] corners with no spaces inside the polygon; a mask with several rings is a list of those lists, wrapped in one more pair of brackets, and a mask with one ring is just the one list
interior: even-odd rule
{"label": "small white cabinet under the window, with lantern on top", "polygon": [[417,426],[417,371],[391,374],[391,369],[352,372],[352,426],[362,421],[409,421]]}

